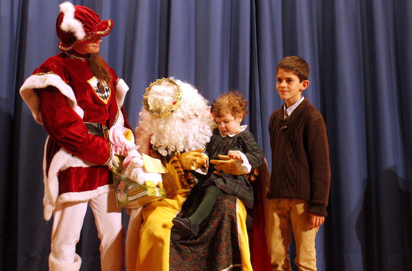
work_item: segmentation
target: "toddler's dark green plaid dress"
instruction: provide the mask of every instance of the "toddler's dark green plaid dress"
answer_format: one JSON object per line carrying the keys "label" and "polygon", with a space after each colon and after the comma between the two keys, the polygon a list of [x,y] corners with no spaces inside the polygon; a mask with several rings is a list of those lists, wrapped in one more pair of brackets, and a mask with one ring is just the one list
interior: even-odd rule
{"label": "toddler's dark green plaid dress", "polygon": [[[256,143],[253,134],[244,130],[234,137],[222,137],[216,128],[213,131],[211,141],[206,145],[205,153],[209,160],[219,159],[218,154],[227,155],[228,151],[241,151],[248,158],[252,168],[259,167],[265,161],[265,155]],[[229,195],[238,197],[247,208],[253,208],[253,188],[248,178],[243,175],[213,173],[213,164],[209,166],[207,175],[201,179],[201,189],[206,189],[214,183],[220,190]]]}

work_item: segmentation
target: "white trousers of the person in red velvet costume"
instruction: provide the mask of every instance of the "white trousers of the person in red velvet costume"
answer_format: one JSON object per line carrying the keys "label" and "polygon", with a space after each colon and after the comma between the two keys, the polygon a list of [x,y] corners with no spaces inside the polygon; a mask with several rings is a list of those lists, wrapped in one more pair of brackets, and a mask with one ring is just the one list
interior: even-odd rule
{"label": "white trousers of the person in red velvet costume", "polygon": [[80,269],[81,259],[76,254],[87,205],[93,211],[100,238],[101,270],[123,270],[123,238],[121,208],[117,207],[114,189],[85,202],[59,204],[53,213],[52,246],[49,270]]}

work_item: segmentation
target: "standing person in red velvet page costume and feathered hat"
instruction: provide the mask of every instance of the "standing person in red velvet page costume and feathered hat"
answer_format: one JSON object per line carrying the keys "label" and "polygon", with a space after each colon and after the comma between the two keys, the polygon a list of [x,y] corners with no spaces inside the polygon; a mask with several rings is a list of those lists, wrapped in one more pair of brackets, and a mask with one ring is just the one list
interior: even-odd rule
{"label": "standing person in red velvet page costume and feathered hat", "polygon": [[20,89],[49,134],[43,167],[44,218],[54,217],[49,270],[80,269],[75,248],[89,205],[101,240],[101,269],[121,271],[124,231],[108,169],[107,129],[130,129],[122,106],[129,88],[98,55],[112,20],[101,21],[93,10],[70,2],[60,11],[56,31],[62,52],[35,69]]}

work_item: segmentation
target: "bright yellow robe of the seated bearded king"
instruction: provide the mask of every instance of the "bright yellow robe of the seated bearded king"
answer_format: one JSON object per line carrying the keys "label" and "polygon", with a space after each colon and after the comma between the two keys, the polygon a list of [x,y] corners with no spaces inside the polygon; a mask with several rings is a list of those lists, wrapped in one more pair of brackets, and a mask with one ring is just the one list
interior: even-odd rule
{"label": "bright yellow robe of the seated bearded king", "polygon": [[[172,219],[179,213],[182,204],[189,195],[189,190],[182,189],[180,181],[178,181],[179,173],[176,172],[175,166],[171,163],[166,164],[169,173],[163,176],[163,184],[166,194],[169,196],[151,202],[145,205],[143,209],[133,210],[131,213],[126,238],[127,271],[169,270]],[[248,233],[246,231],[246,208],[240,200],[236,201],[236,212],[242,270],[248,271],[252,270],[252,264],[250,262]],[[132,254],[136,253],[136,250],[137,257],[135,261]],[[232,266],[228,266],[229,269],[230,267]]]}

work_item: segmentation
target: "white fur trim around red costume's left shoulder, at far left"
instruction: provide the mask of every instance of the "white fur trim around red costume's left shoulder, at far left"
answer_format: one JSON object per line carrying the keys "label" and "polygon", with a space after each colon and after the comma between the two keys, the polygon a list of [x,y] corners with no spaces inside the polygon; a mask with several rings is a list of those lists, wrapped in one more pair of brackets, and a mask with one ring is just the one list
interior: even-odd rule
{"label": "white fur trim around red costume's left shoulder, at far left", "polygon": [[34,89],[42,89],[47,86],[54,86],[57,88],[61,94],[67,97],[69,105],[73,110],[83,118],[84,111],[77,105],[76,96],[73,89],[66,84],[59,75],[54,73],[45,73],[41,75],[31,75],[20,88],[20,95],[23,98],[24,102],[30,108],[33,118],[37,123],[43,124],[42,117],[40,114],[40,100]]}

